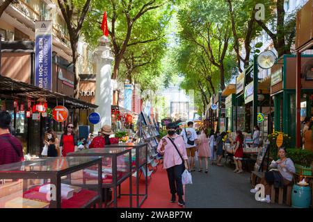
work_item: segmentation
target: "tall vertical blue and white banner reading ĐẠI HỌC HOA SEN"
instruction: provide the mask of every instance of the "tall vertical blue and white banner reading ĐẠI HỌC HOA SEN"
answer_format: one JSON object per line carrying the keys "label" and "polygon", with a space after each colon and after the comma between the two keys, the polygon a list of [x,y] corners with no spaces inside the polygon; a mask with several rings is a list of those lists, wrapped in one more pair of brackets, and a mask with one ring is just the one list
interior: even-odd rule
{"label": "tall vertical blue and white banner reading \u0110\u1ea0I H\u1eccC HOA SEN", "polygon": [[35,86],[52,89],[52,22],[35,22]]}

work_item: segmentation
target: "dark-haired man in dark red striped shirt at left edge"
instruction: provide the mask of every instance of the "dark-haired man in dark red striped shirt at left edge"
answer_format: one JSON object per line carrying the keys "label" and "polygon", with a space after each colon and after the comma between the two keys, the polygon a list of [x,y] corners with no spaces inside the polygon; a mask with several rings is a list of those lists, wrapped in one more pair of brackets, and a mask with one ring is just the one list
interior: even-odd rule
{"label": "dark-haired man in dark red striped shirt at left edge", "polygon": [[0,165],[24,160],[21,142],[10,134],[10,123],[10,114],[0,112]]}

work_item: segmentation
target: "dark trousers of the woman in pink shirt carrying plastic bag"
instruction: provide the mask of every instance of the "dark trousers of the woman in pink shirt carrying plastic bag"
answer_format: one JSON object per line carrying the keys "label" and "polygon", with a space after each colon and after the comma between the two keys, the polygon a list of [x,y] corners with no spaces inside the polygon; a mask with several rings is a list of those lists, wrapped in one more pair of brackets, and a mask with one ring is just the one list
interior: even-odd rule
{"label": "dark trousers of the woman in pink shirt carrying plastic bag", "polygon": [[166,169],[168,172],[168,183],[170,185],[170,194],[176,194],[178,196],[184,195],[182,187],[182,173],[184,172],[184,163],[170,167]]}

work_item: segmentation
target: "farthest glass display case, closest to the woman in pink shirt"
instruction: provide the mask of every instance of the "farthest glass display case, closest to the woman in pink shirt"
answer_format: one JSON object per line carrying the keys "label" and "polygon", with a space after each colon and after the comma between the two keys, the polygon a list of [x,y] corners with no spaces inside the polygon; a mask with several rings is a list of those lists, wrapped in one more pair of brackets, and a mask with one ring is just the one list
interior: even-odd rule
{"label": "farthest glass display case, closest to the woman in pink shirt", "polygon": [[[132,171],[136,171],[136,203],[137,207],[141,207],[145,199],[147,198],[147,173],[144,173],[145,176],[145,194],[140,194],[139,192],[139,176],[140,169],[147,172],[147,155],[148,155],[148,144],[147,143],[120,143],[120,144],[112,144],[108,147],[116,147],[116,148],[131,148],[132,155]],[[135,160],[135,162],[134,162]],[[124,194],[121,194],[124,195]],[[139,197],[143,196],[141,201]]]}

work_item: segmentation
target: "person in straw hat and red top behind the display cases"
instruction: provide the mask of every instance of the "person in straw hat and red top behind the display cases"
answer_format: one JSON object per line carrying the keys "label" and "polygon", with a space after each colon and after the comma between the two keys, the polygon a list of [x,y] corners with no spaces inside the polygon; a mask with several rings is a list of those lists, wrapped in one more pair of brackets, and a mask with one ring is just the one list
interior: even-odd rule
{"label": "person in straw hat and red top behind the display cases", "polygon": [[93,142],[89,145],[89,148],[104,148],[105,145],[118,144],[118,138],[110,138],[113,135],[111,126],[104,125],[101,128],[101,135],[93,139]]}

